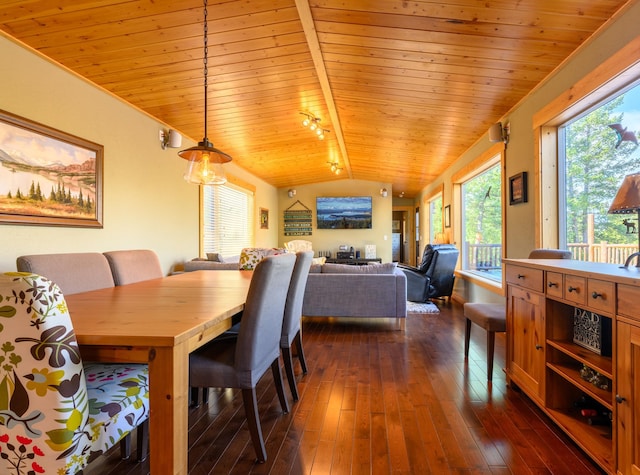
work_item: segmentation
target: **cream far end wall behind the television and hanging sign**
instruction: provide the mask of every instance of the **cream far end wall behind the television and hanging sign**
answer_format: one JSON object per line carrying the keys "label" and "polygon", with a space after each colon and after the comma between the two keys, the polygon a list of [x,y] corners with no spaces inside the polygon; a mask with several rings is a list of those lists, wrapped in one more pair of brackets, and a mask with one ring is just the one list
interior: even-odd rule
{"label": "cream far end wall behind the television and hanging sign", "polygon": [[[380,188],[386,188],[386,198],[380,196]],[[331,251],[332,256],[341,244],[353,246],[361,251],[364,257],[365,244],[375,244],[377,257],[382,262],[391,262],[391,217],[392,191],[390,183],[365,180],[336,180],[312,185],[297,186],[296,196],[289,198],[288,188],[278,191],[280,213],[278,216],[278,243],[283,245],[293,239],[305,239],[313,243],[313,250]],[[372,198],[372,229],[318,229],[316,221],[316,197],[318,196],[371,196]],[[283,212],[296,201],[312,211],[313,231],[311,236],[285,236]],[[300,204],[292,209],[304,209]]]}

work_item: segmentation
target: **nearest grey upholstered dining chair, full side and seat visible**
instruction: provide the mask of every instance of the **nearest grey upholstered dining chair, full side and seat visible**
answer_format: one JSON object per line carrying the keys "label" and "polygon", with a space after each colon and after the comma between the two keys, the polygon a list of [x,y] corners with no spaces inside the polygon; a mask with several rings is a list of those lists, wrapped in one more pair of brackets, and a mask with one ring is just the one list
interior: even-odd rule
{"label": "nearest grey upholstered dining chair, full side and seat visible", "polygon": [[282,410],[289,412],[280,373],[280,336],[296,256],[261,260],[253,271],[238,338],[213,340],[189,356],[192,388],[242,390],[249,433],[260,462],[267,460],[258,415],[256,385],[271,368]]}

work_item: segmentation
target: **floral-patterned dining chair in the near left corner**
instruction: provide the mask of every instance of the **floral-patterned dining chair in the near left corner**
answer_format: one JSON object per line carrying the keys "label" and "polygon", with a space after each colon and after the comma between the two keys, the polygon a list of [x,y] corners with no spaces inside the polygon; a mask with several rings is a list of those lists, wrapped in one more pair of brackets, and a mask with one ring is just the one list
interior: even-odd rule
{"label": "floral-patterned dining chair in the near left corner", "polygon": [[56,284],[0,274],[0,473],[73,474],[147,419],[148,367],[83,365]]}

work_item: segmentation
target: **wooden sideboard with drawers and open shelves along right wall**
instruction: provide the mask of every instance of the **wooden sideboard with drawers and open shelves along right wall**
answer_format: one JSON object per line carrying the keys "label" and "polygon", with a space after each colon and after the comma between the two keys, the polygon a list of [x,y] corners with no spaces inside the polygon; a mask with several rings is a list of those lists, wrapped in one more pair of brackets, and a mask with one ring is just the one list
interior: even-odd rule
{"label": "wooden sideboard with drawers and open shelves along right wall", "polygon": [[[606,472],[640,473],[640,269],[563,259],[504,263],[510,386]],[[593,336],[585,318],[588,328],[599,325],[595,345],[585,340]],[[608,388],[585,379],[593,372]],[[581,412],[585,400],[591,418]]]}

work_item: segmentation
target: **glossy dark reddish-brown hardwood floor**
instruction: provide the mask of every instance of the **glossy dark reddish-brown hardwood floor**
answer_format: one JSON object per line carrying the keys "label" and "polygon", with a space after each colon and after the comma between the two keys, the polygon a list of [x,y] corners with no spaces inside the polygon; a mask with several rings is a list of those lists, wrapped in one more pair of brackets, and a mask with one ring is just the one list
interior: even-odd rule
{"label": "glossy dark reddish-brown hardwood floor", "polygon": [[[189,413],[189,473],[602,473],[506,387],[504,335],[491,384],[484,331],[473,328],[466,363],[462,307],[437,304],[439,314],[409,315],[404,332],[392,320],[305,319],[309,372],[296,365],[300,400],[290,399],[283,415],[270,372],[258,386],[268,461],[255,463],[240,393],[216,389]],[[85,474],[149,472],[148,463],[118,456],[112,451]]]}

